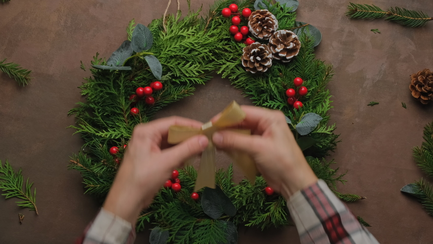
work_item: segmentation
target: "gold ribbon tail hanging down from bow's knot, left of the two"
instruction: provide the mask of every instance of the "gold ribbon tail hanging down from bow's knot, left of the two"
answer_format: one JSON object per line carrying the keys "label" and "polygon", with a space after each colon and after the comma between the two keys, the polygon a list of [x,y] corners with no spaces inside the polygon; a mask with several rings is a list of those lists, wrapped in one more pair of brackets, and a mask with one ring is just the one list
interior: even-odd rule
{"label": "gold ribbon tail hanging down from bow's knot, left of the two", "polygon": [[215,189],[215,146],[209,141],[201,154],[200,167],[197,172],[197,181],[194,192],[209,187]]}

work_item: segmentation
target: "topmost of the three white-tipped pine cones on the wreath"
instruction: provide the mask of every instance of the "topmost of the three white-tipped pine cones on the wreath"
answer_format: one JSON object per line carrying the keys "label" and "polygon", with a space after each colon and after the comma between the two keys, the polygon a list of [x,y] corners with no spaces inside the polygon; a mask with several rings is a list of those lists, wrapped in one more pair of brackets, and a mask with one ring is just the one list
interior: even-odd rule
{"label": "topmost of the three white-tipped pine cones on the wreath", "polygon": [[248,28],[256,38],[268,40],[278,29],[278,20],[266,9],[256,10],[248,18]]}

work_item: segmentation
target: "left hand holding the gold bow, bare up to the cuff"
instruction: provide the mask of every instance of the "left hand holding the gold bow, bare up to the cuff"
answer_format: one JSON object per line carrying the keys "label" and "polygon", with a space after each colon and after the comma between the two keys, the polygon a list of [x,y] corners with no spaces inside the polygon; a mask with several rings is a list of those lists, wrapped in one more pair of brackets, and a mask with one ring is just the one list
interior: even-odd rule
{"label": "left hand holding the gold bow, bare up to the cuff", "polygon": [[208,139],[203,135],[169,147],[168,129],[173,125],[200,128],[202,123],[173,116],[137,125],[105,200],[105,210],[134,225],[173,169],[206,148]]}

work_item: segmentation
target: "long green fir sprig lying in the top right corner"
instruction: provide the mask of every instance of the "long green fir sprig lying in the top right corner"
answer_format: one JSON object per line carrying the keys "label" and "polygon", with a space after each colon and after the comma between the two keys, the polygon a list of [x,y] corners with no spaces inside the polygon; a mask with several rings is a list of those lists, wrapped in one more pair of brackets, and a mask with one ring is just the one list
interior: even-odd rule
{"label": "long green fir sprig lying in the top right corner", "polygon": [[404,8],[389,8],[387,11],[375,5],[353,4],[347,6],[346,15],[350,18],[376,19],[386,17],[386,20],[394,21],[410,27],[424,26],[433,17],[428,17],[422,11],[407,10]]}

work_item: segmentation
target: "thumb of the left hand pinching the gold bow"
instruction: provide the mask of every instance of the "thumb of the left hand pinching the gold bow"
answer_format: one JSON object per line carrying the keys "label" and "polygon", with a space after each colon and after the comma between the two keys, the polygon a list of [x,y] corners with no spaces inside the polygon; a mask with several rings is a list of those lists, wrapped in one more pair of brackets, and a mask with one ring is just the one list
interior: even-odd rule
{"label": "thumb of the left hand pinching the gold bow", "polygon": [[208,145],[209,140],[204,135],[193,136],[175,146],[164,149],[164,161],[171,162],[170,167],[178,167],[182,162],[194,155],[200,154]]}

